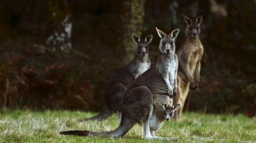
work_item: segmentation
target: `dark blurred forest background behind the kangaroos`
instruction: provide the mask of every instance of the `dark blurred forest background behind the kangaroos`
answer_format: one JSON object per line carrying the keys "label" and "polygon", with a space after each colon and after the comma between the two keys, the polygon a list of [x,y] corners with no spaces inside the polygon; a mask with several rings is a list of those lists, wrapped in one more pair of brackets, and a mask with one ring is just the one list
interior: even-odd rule
{"label": "dark blurred forest background behind the kangaroos", "polygon": [[[35,110],[99,111],[111,75],[133,58],[131,35],[153,34],[155,63],[160,38],[178,28],[182,14],[203,15],[204,46],[199,88],[185,111],[256,113],[255,0],[0,0],[0,105]],[[70,14],[72,48],[46,45]]]}

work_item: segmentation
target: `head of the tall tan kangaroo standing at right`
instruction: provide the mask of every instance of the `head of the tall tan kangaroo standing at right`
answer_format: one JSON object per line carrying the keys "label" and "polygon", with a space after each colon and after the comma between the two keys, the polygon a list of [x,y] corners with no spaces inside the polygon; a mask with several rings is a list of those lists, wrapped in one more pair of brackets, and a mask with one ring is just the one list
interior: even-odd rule
{"label": "head of the tall tan kangaroo standing at right", "polygon": [[196,17],[196,21],[193,22],[189,17],[183,14],[184,20],[187,23],[186,35],[193,38],[199,36],[200,34],[200,24],[202,22],[203,16]]}

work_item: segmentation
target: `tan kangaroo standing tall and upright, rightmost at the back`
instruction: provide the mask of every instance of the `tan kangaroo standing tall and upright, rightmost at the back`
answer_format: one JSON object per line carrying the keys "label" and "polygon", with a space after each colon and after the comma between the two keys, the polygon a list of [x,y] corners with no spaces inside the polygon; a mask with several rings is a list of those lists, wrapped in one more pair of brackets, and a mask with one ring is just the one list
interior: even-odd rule
{"label": "tan kangaroo standing tall and upright, rightmost at the back", "polygon": [[203,17],[198,16],[193,22],[189,17],[183,15],[186,28],[186,40],[177,51],[179,59],[179,68],[177,75],[177,96],[174,103],[181,104],[180,108],[175,112],[174,118],[178,121],[182,115],[185,100],[187,98],[189,88],[194,90],[198,87],[200,77],[200,61],[204,52],[204,48],[199,39],[200,24]]}

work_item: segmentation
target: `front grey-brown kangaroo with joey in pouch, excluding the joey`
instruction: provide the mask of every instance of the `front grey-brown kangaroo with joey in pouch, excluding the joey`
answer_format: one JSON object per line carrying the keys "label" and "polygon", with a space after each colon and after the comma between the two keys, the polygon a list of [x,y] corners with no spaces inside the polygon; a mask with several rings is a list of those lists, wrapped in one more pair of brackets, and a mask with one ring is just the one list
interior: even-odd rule
{"label": "front grey-brown kangaroo with joey in pouch, excluding the joey", "polygon": [[[170,138],[152,136],[152,132],[150,133],[150,119],[151,127],[153,127],[152,120],[157,118],[156,114],[158,112],[157,110],[154,112],[154,107],[159,103],[166,103],[166,101],[172,100],[175,96],[174,85],[178,59],[175,54],[174,39],[177,37],[179,29],[173,30],[169,35],[157,28],[156,30],[161,38],[159,44],[160,55],[157,62],[149,70],[138,76],[126,90],[122,100],[122,117],[119,127],[109,132],[75,130],[60,132],[60,134],[121,137],[135,123],[138,123],[142,124],[142,138],[172,140]],[[167,81],[167,79],[169,80]],[[169,86],[171,86],[171,89]],[[151,130],[154,131],[152,128]]]}

